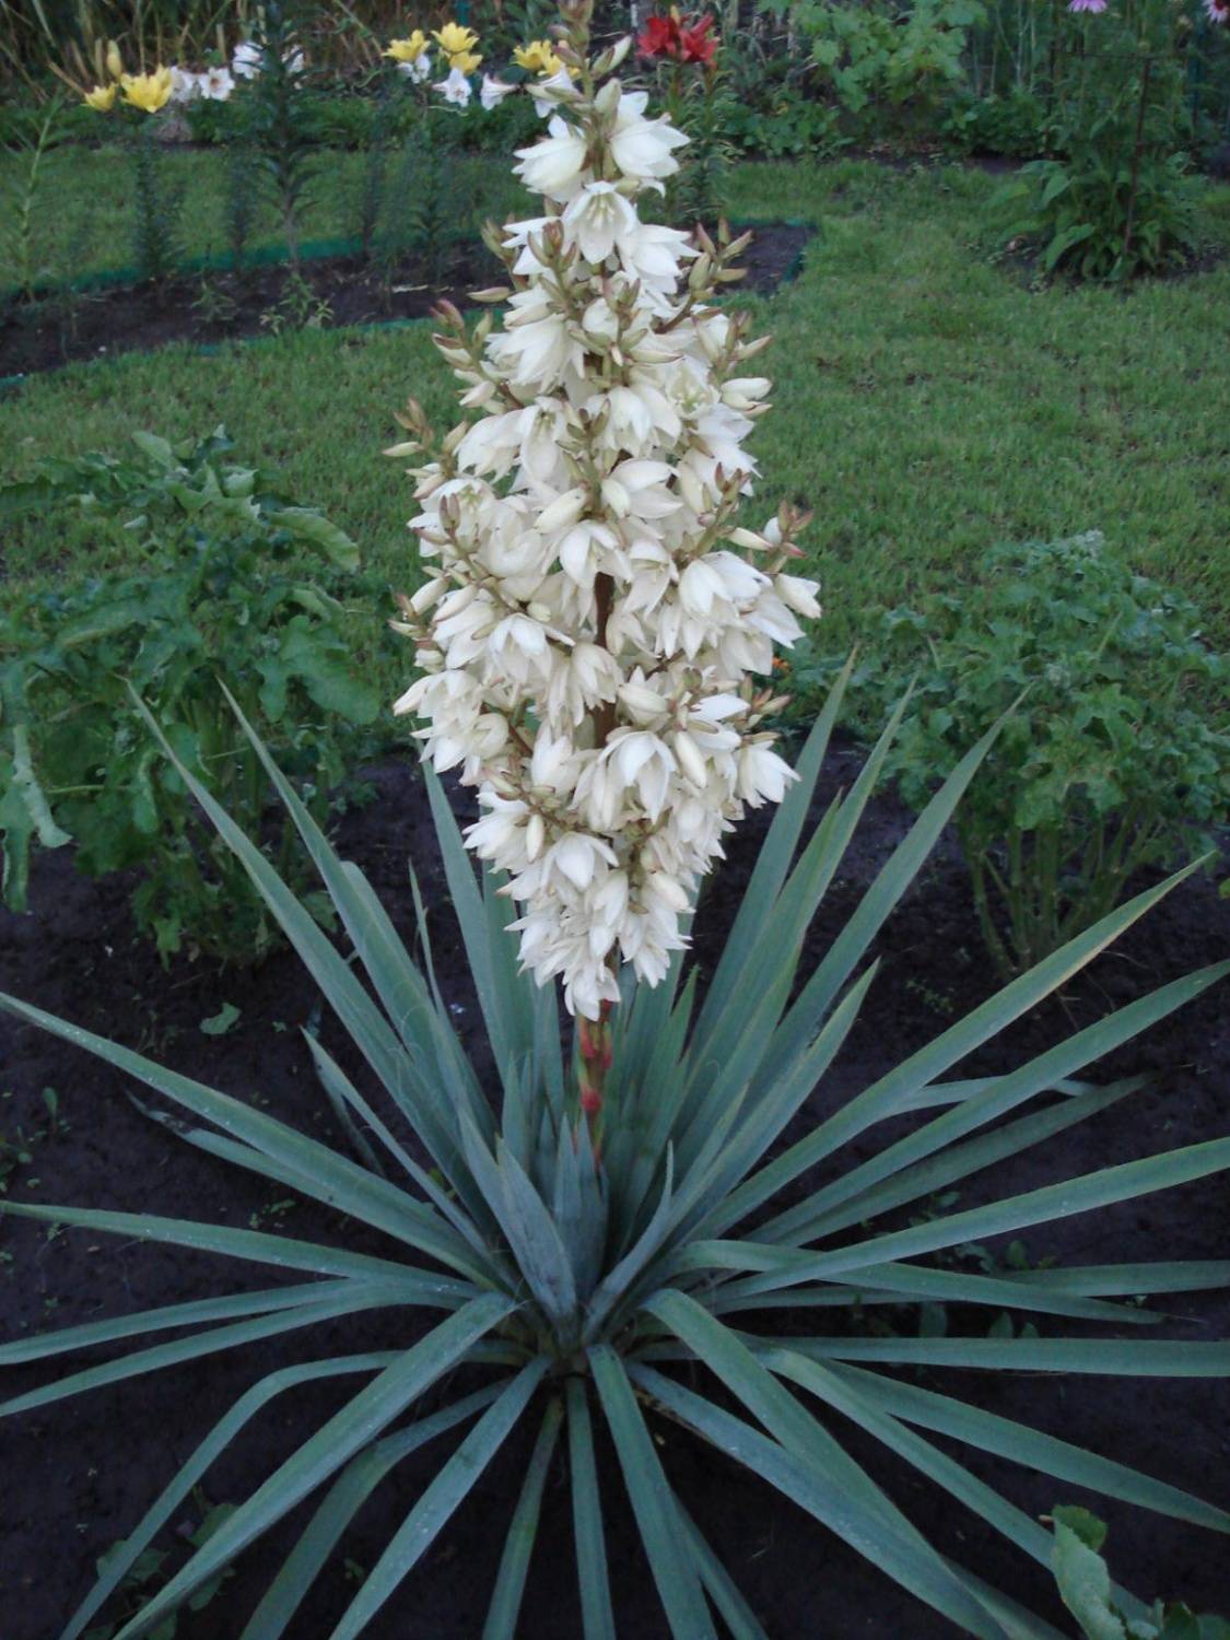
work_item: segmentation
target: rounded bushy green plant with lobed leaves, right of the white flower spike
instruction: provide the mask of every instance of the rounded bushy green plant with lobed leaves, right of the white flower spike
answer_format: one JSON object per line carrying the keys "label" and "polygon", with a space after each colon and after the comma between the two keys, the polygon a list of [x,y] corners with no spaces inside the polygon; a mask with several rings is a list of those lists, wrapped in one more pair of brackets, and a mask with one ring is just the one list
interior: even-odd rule
{"label": "rounded bushy green plant with lobed leaves, right of the white flower spike", "polygon": [[859,677],[864,720],[910,676],[889,771],[915,809],[1020,697],[958,817],[1004,973],[1104,917],[1143,866],[1215,846],[1230,813],[1225,658],[1184,597],[1100,535],[995,548],[973,585],[889,612]]}

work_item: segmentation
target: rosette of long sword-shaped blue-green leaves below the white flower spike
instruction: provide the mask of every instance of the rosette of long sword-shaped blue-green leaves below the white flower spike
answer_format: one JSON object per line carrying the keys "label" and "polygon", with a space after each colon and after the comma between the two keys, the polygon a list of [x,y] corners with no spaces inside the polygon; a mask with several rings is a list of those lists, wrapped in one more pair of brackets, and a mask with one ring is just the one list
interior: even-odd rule
{"label": "rosette of long sword-shaped blue-green leaves below the white flower spike", "polygon": [[[92,1235],[189,1241],[313,1279],[264,1292],[189,1299],[3,1345],[0,1364],[8,1366],[87,1345],[141,1340],[133,1353],[105,1366],[64,1373],[11,1397],[0,1414],[44,1409],[171,1360],[203,1361],[215,1350],[257,1345],[341,1315],[395,1310],[408,1319],[412,1310],[426,1309],[444,1319],[397,1350],[315,1360],[259,1379],[126,1538],[125,1553],[108,1565],[64,1640],[75,1640],[103,1609],[128,1566],[208,1465],[243,1437],[248,1420],[285,1389],[326,1378],[358,1378],[362,1387],[239,1502],[116,1640],[149,1635],[243,1550],[315,1497],[313,1514],[243,1632],[243,1640],[279,1640],[349,1522],[394,1466],[425,1442],[469,1424],[426,1491],[397,1522],[335,1627],[333,1640],[354,1640],[421,1560],[531,1405],[538,1437],[492,1591],[484,1629],[489,1640],[510,1640],[517,1629],[543,1492],[561,1438],[571,1460],[581,1630],[585,1640],[615,1633],[594,1460],[595,1414],[610,1430],[677,1640],[715,1640],[713,1612],[753,1640],[763,1630],[669,1483],[653,1438],[659,1415],[746,1465],[920,1601],[982,1640],[1007,1633],[1055,1640],[1055,1630],[991,1589],[977,1573],[936,1553],[841,1446],[830,1427],[831,1412],[853,1419],[1041,1565],[1050,1563],[1051,1535],[920,1432],[956,1437],[1074,1486],[1230,1530],[1223,1509],[1127,1465],[876,1371],[882,1364],[1192,1378],[1230,1371],[1225,1345],[1141,1340],[1161,1317],[1115,1302],[1123,1294],[1220,1286],[1228,1274],[1225,1263],[1022,1269],[1004,1278],[925,1263],[928,1255],[976,1237],[1020,1232],[1222,1171],[1230,1166],[1230,1138],[1100,1168],[963,1212],[940,1212],[920,1225],[881,1227],[881,1215],[933,1197],[936,1179],[959,1181],[1128,1094],[1137,1079],[1091,1087],[1069,1077],[1225,977],[1230,963],[1132,1002],[1010,1074],[941,1081],[1155,905],[1178,881],[1171,879],[1102,918],[794,1143],[777,1148],[866,1002],[874,966],[859,969],[869,943],[995,738],[994,731],[984,736],[950,774],[795,995],[805,930],[840,871],[904,715],[902,705],[859,779],[848,795],[835,799],[795,861],[846,676],[838,679],[802,751],[800,781],[774,815],[704,1000],[695,973],[682,979],[677,954],[661,986],[636,986],[625,976],[623,1002],[604,1027],[612,1053],[595,1122],[582,1109],[577,1074],[592,1056],[592,1043],[585,1046],[582,1030],[579,1056],[564,1056],[553,989],[538,989],[518,971],[507,932],[515,909],[499,892],[499,877],[476,881],[435,776],[428,772],[426,779],[448,887],[492,1041],[499,1117],[435,984],[421,904],[425,971],[400,945],[362,872],[338,859],[253,735],[253,749],[277,782],[333,897],[353,945],[353,968],[146,713],[179,777],[251,874],[384,1087],[392,1120],[413,1132],[415,1150],[315,1038],[307,1043],[315,1066],[377,1158],[374,1168],[26,1002],[3,997],[0,1005],[156,1089],[185,1114],[177,1132],[189,1143],[279,1187],[328,1202],[380,1230],[402,1251],[374,1258],[344,1245],[228,1225],[5,1204],[7,1212],[82,1227]],[[1058,1099],[1018,1114],[1056,1089]],[[818,1163],[902,1112],[922,1114],[907,1137],[886,1141],[858,1166],[830,1168],[817,1186],[812,1169]],[[1012,1120],[1000,1122],[1007,1117]],[[430,1164],[418,1159],[423,1151]],[[825,1243],[822,1251],[817,1241]],[[1079,1338],[1025,1332],[869,1338],[843,1337],[833,1328],[777,1338],[771,1330],[782,1307],[833,1307],[841,1315],[863,1302],[945,1299],[995,1312],[1007,1304],[1036,1317],[1102,1322],[1132,1337],[1107,1338],[1087,1327]],[[143,1342],[164,1327],[179,1330],[169,1350]],[[471,1376],[464,1394],[461,1386],[453,1396],[446,1389],[438,1410],[399,1427],[428,1387],[446,1383],[462,1363],[481,1368],[485,1383],[471,1389]],[[1125,1609],[1143,1615],[1140,1602],[1125,1599]]]}

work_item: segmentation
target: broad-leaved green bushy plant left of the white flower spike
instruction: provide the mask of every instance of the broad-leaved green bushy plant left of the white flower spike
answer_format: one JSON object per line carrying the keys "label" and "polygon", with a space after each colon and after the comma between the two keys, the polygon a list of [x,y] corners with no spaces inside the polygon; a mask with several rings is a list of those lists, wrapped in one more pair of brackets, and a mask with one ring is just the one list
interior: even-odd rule
{"label": "broad-leaved green bushy plant left of the white flower spike", "polygon": [[[48,462],[0,507],[80,505],[139,533],[138,574],[11,604],[0,626],[3,892],[26,904],[31,845],[77,845],[80,869],[144,866],[138,925],[169,954],[184,943],[231,961],[264,954],[274,928],[230,851],[202,828],[174,771],[133,718],[131,679],[179,754],[256,830],[267,782],[221,708],[216,672],[276,736],[318,817],[361,754],[376,690],[354,677],[336,590],[356,567],[349,538],[289,503],[269,474],[225,461],[221,433],[172,448],[138,435],[138,454]],[[320,553],[315,571],[305,554]],[[343,725],[348,725],[343,731]],[[271,845],[274,846],[274,845]],[[282,869],[303,881],[289,827]]]}

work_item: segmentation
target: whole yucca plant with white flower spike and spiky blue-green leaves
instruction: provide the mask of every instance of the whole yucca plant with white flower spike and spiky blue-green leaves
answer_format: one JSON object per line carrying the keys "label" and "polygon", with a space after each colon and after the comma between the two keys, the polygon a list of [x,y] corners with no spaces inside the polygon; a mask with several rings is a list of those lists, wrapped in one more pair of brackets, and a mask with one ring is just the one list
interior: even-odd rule
{"label": "whole yucca plant with white flower spike and spiky blue-green leaves", "polygon": [[[154,1533],[246,1422],[307,1378],[351,1374],[358,1392],[202,1543],[116,1640],[156,1632],[180,1602],[305,1499],[315,1514],[276,1571],[241,1640],[279,1640],[390,1469],[425,1440],[469,1424],[389,1542],[331,1640],[353,1640],[385,1606],[523,1417],[538,1425],[508,1522],[484,1640],[512,1637],[543,1492],[566,1440],[581,1630],[615,1635],[594,1419],[610,1430],[666,1622],[676,1640],[720,1625],[763,1633],[663,1471],[656,1409],[779,1487],[959,1629],[1055,1640],[1055,1630],[936,1553],[843,1450],[833,1410],[882,1440],[1043,1565],[1051,1537],[956,1460],[936,1432],[1009,1453],[1071,1486],[1132,1499],[1212,1530],[1230,1515],[1173,1486],[974,1405],[899,1383],[877,1364],[1230,1373],[1222,1343],[1102,1338],[882,1338],[850,1327],[777,1338],[781,1312],[953,1302],[1105,1322],[1138,1333],[1158,1317],[1117,1297],[1220,1286],[1230,1263],[1164,1263],[1005,1276],[966,1274],[928,1255],[974,1237],[1127,1200],[1230,1166],[1230,1138],[894,1228],[910,1204],[1130,1096],[1073,1081],[1082,1068],[1222,977],[1202,969],[1120,1009],[1007,1076],[945,1082],[991,1036],[1068,982],[1178,877],[1140,894],[905,1058],[833,1115],[787,1130],[823,1081],[874,981],[866,958],[954,812],[997,730],[958,764],[868,889],[845,930],[800,973],[809,925],[884,768],[902,702],[848,795],[809,831],[818,769],[850,667],[797,768],[771,751],[774,641],[815,615],[815,584],[786,566],[805,522],[782,508],[761,533],[738,523],[754,464],[741,440],[769,384],[738,376],[758,349],[746,323],[708,298],[733,277],[736,246],[687,244],[636,215],[635,198],[677,169],[684,138],[645,116],[612,48],[587,56],[589,0],[567,0],[558,74],[536,100],[556,112],[522,151],[544,213],[490,235],[510,287],[502,331],[441,318],[444,358],[479,412],[418,469],[413,520],[431,577],[403,600],[400,628],[421,677],[418,710],[446,881],[495,1064],[487,1087],[440,994],[418,905],[420,971],[362,874],[338,859],[253,735],[353,951],[321,932],[266,856],[175,763],[238,854],[323,997],[351,1035],[387,1109],[317,1041],[308,1051],[359,1159],[241,1100],[161,1069],[11,997],[3,1007],[102,1055],[192,1118],[189,1143],[380,1232],[382,1256],[254,1230],[151,1215],[8,1204],[92,1232],[166,1240],[310,1276],[266,1292],[92,1322],[0,1350],[0,1364],[143,1338],[172,1343],[67,1374],[0,1412],[44,1407],[97,1384],[198,1361],[361,1312],[443,1312],[417,1343],[292,1366],[257,1383],[205,1437],[107,1561],[62,1640],[75,1640]],[[682,276],[681,262],[690,262]],[[682,282],[682,289],[681,289]],[[430,441],[421,412],[395,454]],[[507,482],[505,482],[507,481]],[[730,551],[738,546],[740,558]],[[766,567],[756,567],[751,558]],[[251,733],[243,717],[243,728]],[[476,879],[438,769],[476,786]],[[781,807],[704,995],[682,953],[699,877],[746,805]],[[505,876],[507,872],[507,876]],[[512,933],[520,933],[518,951]],[[366,982],[364,976],[366,974]],[[577,1015],[561,1045],[556,977]],[[1030,1105],[1032,1100],[1045,1102]],[[1025,1107],[1030,1109],[1025,1109]],[[858,1166],[843,1146],[909,1114],[910,1132]],[[194,1125],[195,1123],[195,1125]],[[425,1161],[423,1156],[430,1158]],[[431,1386],[467,1364],[485,1387],[412,1419]],[[702,1373],[700,1368],[705,1371]],[[707,1376],[705,1376],[707,1373]],[[467,1374],[467,1379],[471,1374]],[[471,1379],[472,1381],[472,1379]],[[438,1391],[440,1392],[440,1391]],[[443,1386],[448,1394],[448,1384]],[[1122,1610],[1143,1612],[1127,1592]]]}

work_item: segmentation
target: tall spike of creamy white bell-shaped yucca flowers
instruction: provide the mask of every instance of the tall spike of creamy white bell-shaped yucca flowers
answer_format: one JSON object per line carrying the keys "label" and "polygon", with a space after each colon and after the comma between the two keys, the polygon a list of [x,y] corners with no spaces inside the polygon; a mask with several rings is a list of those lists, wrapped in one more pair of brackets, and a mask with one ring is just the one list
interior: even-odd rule
{"label": "tall spike of creamy white bell-shaped yucca flowers", "polygon": [[[510,874],[522,959],[602,1020],[620,963],[664,977],[723,835],[794,779],[764,679],[820,610],[786,567],[805,518],[736,522],[768,338],[712,297],[745,241],[641,221],[686,138],[613,77],[628,41],[589,61],[584,0],[564,18],[563,69],[533,85],[548,130],[515,167],[543,213],[489,231],[503,328],[441,310],[477,418],[415,469],[431,574],[397,625],[423,676],[395,710],[477,787],[467,843]],[[431,444],[417,405],[403,423],[390,454]]]}

